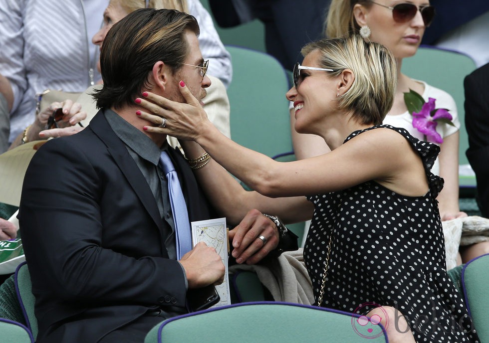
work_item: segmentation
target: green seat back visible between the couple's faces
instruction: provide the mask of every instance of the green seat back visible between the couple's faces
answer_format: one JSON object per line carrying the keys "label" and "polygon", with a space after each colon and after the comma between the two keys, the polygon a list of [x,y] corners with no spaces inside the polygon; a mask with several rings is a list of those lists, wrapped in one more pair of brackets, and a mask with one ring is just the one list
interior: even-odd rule
{"label": "green seat back visible between the couple's faces", "polygon": [[231,138],[269,157],[292,151],[287,76],[270,55],[226,46],[233,63],[228,88]]}

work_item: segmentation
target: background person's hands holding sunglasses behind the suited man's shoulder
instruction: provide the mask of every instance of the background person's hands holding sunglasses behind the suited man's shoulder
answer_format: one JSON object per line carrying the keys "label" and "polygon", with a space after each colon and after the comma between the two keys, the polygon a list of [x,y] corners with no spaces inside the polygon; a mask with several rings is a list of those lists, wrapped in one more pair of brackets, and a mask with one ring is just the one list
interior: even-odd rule
{"label": "background person's hands holding sunglasses behind the suited man's shoulder", "polygon": [[[46,130],[49,117],[52,115],[54,110],[61,107],[63,108],[64,116],[59,122],[56,122],[58,128]],[[84,111],[81,111],[81,105],[77,102],[73,102],[71,100],[53,102],[46,109],[37,114],[34,122],[27,128],[25,134],[22,133],[18,135],[8,150],[22,144],[24,135],[26,142],[48,139],[50,137],[73,135],[83,130],[83,127],[76,124],[85,119],[86,116],[87,114]]]}

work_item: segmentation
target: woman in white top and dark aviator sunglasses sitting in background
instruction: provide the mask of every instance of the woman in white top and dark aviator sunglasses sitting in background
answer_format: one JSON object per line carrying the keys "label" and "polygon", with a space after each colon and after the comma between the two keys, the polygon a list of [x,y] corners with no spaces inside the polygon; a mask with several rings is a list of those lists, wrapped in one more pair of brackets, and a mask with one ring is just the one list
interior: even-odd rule
{"label": "woman in white top and dark aviator sunglasses sitting in background", "polygon": [[[424,134],[413,127],[413,117],[404,102],[404,92],[410,89],[421,94],[425,101],[436,99],[437,108],[448,109],[454,126],[438,123],[437,132],[443,138],[440,155],[432,172],[445,180],[438,196],[442,220],[465,217],[459,208],[459,128],[457,106],[451,95],[430,86],[426,82],[414,80],[401,72],[402,60],[413,56],[421,43],[425,29],[435,16],[435,8],[428,0],[332,0],[326,18],[326,35],[342,37],[347,33],[360,34],[365,40],[383,44],[397,60],[397,89],[394,104],[384,119],[384,124],[408,130],[414,137],[424,140]],[[293,111],[291,121],[295,121]],[[293,126],[292,126],[293,127]],[[317,136],[300,135],[292,130],[294,151],[298,159],[317,156],[329,152],[324,140]],[[434,142],[432,142],[434,143]],[[479,243],[470,247],[472,251],[463,256],[463,262],[485,253],[488,244]],[[460,263],[460,261],[459,261]]]}

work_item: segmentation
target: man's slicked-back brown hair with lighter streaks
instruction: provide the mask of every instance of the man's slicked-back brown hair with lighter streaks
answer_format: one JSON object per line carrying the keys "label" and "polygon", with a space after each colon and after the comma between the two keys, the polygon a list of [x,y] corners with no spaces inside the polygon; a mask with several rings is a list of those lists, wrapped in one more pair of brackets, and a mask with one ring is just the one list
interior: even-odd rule
{"label": "man's slicked-back brown hair with lighter streaks", "polygon": [[193,15],[174,9],[142,8],[112,26],[100,53],[103,88],[93,97],[97,107],[130,105],[148,87],[148,75],[158,61],[175,73],[189,53],[185,32],[199,35]]}

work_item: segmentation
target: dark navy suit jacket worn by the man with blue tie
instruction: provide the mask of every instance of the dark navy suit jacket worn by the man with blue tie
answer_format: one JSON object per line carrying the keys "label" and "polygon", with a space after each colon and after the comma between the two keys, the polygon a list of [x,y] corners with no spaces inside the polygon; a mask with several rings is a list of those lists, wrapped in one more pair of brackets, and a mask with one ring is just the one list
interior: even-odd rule
{"label": "dark navy suit jacket worn by the man with blue tie", "polygon": [[[170,149],[191,221],[210,210],[188,164]],[[167,225],[125,145],[102,113],[47,142],[26,172],[19,210],[36,297],[38,343],[97,342],[148,309],[185,307]]]}

